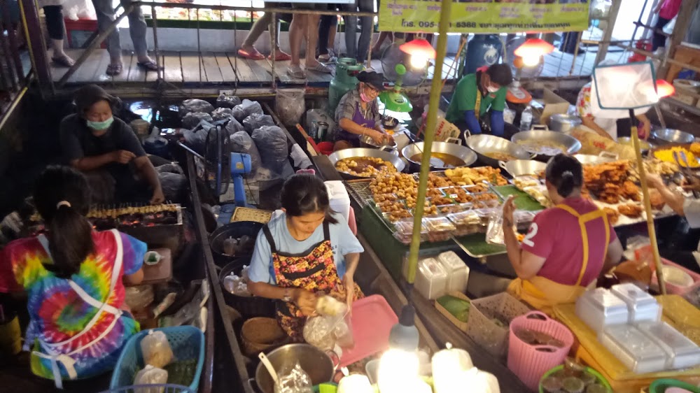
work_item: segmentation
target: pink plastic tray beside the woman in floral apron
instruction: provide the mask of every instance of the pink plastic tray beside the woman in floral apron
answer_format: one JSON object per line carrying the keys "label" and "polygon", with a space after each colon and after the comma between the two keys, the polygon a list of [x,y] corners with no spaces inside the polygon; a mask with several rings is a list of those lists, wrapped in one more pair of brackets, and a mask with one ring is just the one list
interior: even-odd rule
{"label": "pink plastic tray beside the woman in floral apron", "polygon": [[389,348],[389,331],[398,323],[386,299],[381,295],[370,295],[352,305],[352,335],[355,346],[343,350],[340,366],[365,359]]}

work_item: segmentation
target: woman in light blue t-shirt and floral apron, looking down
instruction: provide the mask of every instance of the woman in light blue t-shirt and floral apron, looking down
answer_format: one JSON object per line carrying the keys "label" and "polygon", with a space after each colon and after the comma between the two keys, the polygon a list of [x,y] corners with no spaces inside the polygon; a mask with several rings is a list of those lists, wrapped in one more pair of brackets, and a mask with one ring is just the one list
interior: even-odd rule
{"label": "woman in light blue t-shirt and floral apron, looking down", "polygon": [[294,341],[302,341],[305,318],[316,296],[330,294],[348,306],[363,296],[353,276],[364,249],[347,222],[330,209],[321,179],[289,178],[282,188],[283,213],[262,228],[255,242],[248,290],[279,299],[277,320]]}

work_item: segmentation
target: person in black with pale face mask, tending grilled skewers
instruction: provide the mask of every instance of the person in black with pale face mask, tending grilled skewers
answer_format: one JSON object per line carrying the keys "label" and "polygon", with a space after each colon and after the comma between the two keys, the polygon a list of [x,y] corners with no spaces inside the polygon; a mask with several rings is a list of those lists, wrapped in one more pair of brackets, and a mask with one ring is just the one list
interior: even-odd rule
{"label": "person in black with pale face mask, tending grilled skewers", "polygon": [[116,202],[162,203],[158,173],[131,127],[113,116],[116,102],[96,85],[76,92],[77,113],[66,116],[60,127],[66,161],[91,180],[111,183]]}

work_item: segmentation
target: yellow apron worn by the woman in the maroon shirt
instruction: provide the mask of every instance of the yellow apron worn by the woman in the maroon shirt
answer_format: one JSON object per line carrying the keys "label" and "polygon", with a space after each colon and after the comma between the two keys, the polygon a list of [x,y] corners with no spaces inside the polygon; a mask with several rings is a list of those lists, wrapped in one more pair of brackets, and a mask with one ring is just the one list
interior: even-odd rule
{"label": "yellow apron worn by the woman in the maroon shirt", "polygon": [[560,208],[566,210],[568,213],[578,218],[578,224],[581,230],[581,237],[583,240],[583,262],[581,264],[581,271],[578,273],[578,279],[575,285],[563,285],[560,283],[555,283],[544,277],[535,276],[529,280],[521,280],[516,278],[510,285],[508,285],[507,292],[515,296],[517,299],[522,299],[529,303],[531,306],[542,310],[543,312],[551,315],[552,307],[557,304],[562,303],[573,303],[576,301],[578,296],[580,296],[585,287],[582,287],[581,280],[586,273],[586,268],[588,267],[588,257],[589,257],[589,241],[588,241],[588,231],[586,229],[586,223],[597,218],[602,218],[605,224],[605,252],[603,255],[608,255],[608,244],[610,243],[610,225],[608,224],[608,215],[601,209],[591,211],[584,215],[580,215],[576,210],[568,205],[560,204],[555,206],[555,208]]}

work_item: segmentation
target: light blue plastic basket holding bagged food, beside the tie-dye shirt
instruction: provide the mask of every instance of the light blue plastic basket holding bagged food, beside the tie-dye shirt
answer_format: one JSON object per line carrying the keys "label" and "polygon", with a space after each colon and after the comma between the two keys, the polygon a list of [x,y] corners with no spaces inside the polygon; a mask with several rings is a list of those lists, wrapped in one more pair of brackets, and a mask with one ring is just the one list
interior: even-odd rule
{"label": "light blue plastic basket holding bagged food, beside the tie-dye shirt", "polygon": [[[124,345],[122,355],[119,357],[112,375],[111,383],[109,384],[110,390],[114,392],[130,392],[129,390],[120,390],[127,388],[133,390],[132,385],[134,384],[134,378],[139,370],[144,368],[144,355],[141,353],[141,339],[151,330],[160,330],[165,333],[176,360],[197,360],[195,377],[189,386],[189,390],[197,392],[197,387],[200,385],[202,366],[204,366],[204,334],[200,329],[192,326],[150,329],[134,334]],[[177,387],[178,385],[167,386]],[[178,391],[172,391],[168,393],[177,392]],[[181,390],[180,392],[183,391]]]}

